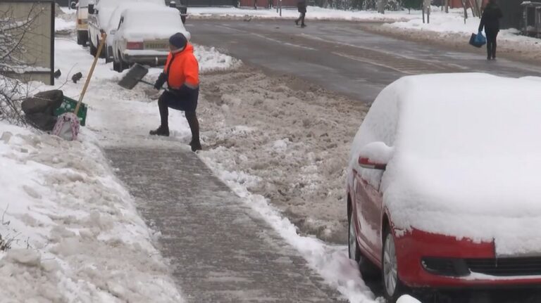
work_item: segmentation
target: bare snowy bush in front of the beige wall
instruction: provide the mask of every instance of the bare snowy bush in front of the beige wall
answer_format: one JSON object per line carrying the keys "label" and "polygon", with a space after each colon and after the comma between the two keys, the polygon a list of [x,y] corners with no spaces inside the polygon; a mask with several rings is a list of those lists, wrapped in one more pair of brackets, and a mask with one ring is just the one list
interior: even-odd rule
{"label": "bare snowy bush in front of the beige wall", "polygon": [[23,18],[15,18],[12,8],[0,11],[0,120],[13,124],[25,124],[20,102],[27,95],[27,87],[15,75],[29,67],[23,59],[27,51],[23,40],[40,13],[39,6],[32,6]]}

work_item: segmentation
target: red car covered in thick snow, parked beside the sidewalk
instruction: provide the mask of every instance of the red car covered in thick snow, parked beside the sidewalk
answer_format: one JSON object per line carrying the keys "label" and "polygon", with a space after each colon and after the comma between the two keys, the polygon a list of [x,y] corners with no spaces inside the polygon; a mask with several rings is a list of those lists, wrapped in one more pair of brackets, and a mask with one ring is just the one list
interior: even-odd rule
{"label": "red car covered in thick snow, parked beside the sidewalk", "polygon": [[541,89],[404,77],[375,99],[347,169],[349,257],[407,288],[541,285]]}

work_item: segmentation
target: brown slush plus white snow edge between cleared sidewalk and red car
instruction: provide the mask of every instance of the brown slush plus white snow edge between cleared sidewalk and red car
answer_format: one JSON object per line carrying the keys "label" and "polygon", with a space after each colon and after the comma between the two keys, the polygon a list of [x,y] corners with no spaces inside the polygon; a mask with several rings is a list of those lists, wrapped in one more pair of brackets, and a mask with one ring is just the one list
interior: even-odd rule
{"label": "brown slush plus white snow edge between cleared sidewalk and red car", "polygon": [[303,236],[347,241],[345,159],[366,108],[245,68],[202,81],[202,160],[325,281],[351,302],[377,302],[346,246]]}

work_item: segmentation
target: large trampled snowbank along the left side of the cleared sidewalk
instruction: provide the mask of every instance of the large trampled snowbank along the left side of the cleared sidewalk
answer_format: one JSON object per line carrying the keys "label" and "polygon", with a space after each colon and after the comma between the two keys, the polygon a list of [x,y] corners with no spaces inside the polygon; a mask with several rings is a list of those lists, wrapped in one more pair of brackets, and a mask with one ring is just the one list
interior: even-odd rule
{"label": "large trampled snowbank along the left side of the cleared sidewalk", "polygon": [[92,134],[68,142],[0,122],[0,138],[0,235],[11,241],[0,297],[182,302]]}

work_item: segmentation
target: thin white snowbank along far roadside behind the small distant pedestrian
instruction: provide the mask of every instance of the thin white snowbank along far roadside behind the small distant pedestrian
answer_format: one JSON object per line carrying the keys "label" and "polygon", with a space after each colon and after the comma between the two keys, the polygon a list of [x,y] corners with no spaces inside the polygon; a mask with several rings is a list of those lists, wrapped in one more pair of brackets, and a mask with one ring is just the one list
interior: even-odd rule
{"label": "thin white snowbank along far roadside behind the small distant pedestrian", "polygon": [[[276,12],[276,9],[258,8],[189,8],[189,18],[262,18],[262,19],[280,19],[280,18],[298,18],[297,8],[282,8],[282,17]],[[330,8],[320,8],[309,6],[307,8],[306,18],[308,20],[349,20],[349,21],[383,21],[392,22],[397,20],[409,20],[416,18],[416,15],[409,14],[408,11],[387,11],[380,14],[375,11],[340,11]]]}

